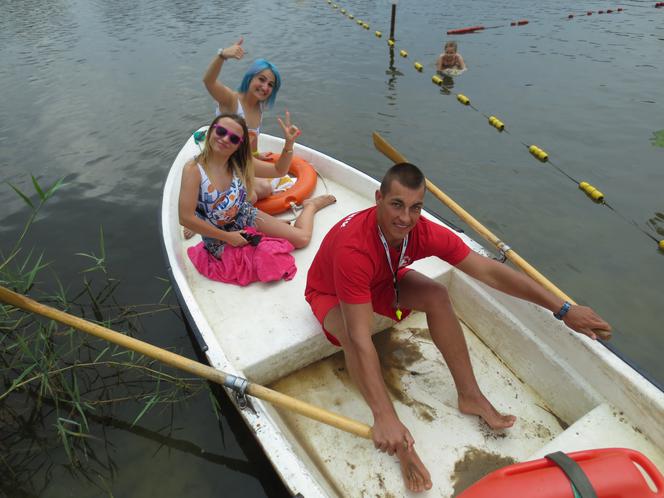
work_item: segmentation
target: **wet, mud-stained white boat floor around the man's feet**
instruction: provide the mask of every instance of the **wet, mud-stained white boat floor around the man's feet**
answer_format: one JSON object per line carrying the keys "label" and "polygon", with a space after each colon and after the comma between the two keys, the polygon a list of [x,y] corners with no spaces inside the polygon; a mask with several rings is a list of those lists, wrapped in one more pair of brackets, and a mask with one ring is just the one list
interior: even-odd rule
{"label": "wet, mud-stained white boat floor around the man's feet", "polygon": [[[452,377],[415,313],[374,336],[383,378],[401,421],[432,475],[433,489],[422,496],[450,497],[492,470],[528,457],[561,433],[566,424],[518,379],[462,323],[480,387],[502,413],[517,416],[514,427],[493,431],[477,416],[457,409]],[[371,412],[352,383],[342,352],[277,382],[273,389],[367,424]],[[396,457],[378,452],[368,440],[304,417],[281,412],[330,488],[341,496],[403,496]]]}

